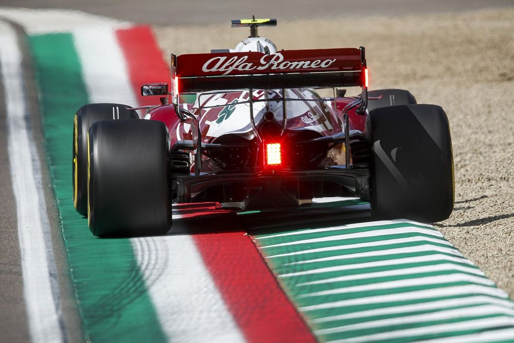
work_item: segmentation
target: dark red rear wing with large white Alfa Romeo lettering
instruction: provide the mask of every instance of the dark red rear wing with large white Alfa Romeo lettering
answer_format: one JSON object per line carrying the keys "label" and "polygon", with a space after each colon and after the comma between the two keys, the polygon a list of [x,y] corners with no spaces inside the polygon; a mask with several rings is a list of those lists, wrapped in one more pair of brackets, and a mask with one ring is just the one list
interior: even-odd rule
{"label": "dark red rear wing with large white Alfa Romeo lettering", "polygon": [[362,87],[368,100],[365,49],[337,48],[171,55],[172,102],[183,93],[233,89]]}

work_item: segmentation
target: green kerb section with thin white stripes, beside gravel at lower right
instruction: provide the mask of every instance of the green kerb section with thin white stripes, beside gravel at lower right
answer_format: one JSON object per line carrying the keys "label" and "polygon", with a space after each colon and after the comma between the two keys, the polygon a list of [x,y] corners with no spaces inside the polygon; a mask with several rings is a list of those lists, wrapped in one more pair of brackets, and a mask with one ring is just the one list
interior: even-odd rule
{"label": "green kerb section with thin white stripes, beside gravel at lower right", "polygon": [[[413,229],[412,232],[406,232],[409,229]],[[483,318],[513,317],[504,313],[511,313],[510,305],[513,305],[506,300],[506,295],[499,292],[478,268],[462,258],[460,253],[432,227],[394,222],[362,227],[352,225],[275,231],[280,233],[256,233],[253,238],[270,269],[278,276],[285,292],[303,313],[320,341],[359,340],[360,337],[367,335],[398,330],[430,328]],[[379,236],[369,236],[370,232]],[[388,243],[390,241],[392,243]],[[423,251],[424,248],[426,251]],[[437,249],[440,251],[436,251]],[[390,251],[398,252],[391,255],[370,255]],[[400,263],[396,264],[396,260]],[[381,262],[390,264],[376,265]],[[431,266],[433,268],[427,268]],[[402,274],[401,270],[408,270],[408,273]],[[374,273],[382,275],[377,276]],[[344,279],[331,280],[333,278]],[[446,295],[445,290],[462,290],[462,293]],[[417,294],[422,296],[416,296]],[[471,298],[481,294],[484,295],[476,301]],[[374,297],[384,300],[366,301]],[[416,310],[415,306],[412,306],[449,299],[463,299],[464,304],[421,310]],[[471,303],[466,302],[467,299],[471,299]],[[487,301],[489,299],[491,302]],[[491,305],[492,303],[494,304]],[[509,306],[505,307],[505,303]],[[323,305],[323,308],[312,307],[316,305]],[[477,305],[491,305],[492,311],[488,315],[475,313],[469,314],[469,317],[458,316],[441,320],[432,316],[427,318],[435,319],[413,322],[406,319],[414,315],[437,316],[438,313],[444,314],[444,311],[472,309]],[[401,311],[403,308],[406,309],[405,312]],[[327,317],[347,316],[379,309],[391,309],[395,312],[320,321]],[[405,320],[401,321],[402,318]],[[387,326],[372,324],[385,319],[398,319],[398,323]],[[359,329],[362,323],[371,323],[371,326]],[[349,327],[352,325],[355,327]],[[339,327],[341,329],[337,329]],[[489,329],[455,329],[443,333],[412,334],[393,340],[401,342],[451,337],[483,330]]]}

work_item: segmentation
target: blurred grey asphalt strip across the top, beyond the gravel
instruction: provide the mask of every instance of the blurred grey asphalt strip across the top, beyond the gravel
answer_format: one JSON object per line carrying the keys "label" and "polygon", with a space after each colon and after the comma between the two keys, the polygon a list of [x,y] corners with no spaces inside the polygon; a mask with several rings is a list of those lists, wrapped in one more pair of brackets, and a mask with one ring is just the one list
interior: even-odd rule
{"label": "blurred grey asphalt strip across the top, beyond the gravel", "polygon": [[[158,26],[226,23],[230,19],[273,17],[330,20],[340,16],[450,13],[514,6],[512,0],[2,0],[0,6],[63,8]],[[365,28],[363,28],[365,29]]]}

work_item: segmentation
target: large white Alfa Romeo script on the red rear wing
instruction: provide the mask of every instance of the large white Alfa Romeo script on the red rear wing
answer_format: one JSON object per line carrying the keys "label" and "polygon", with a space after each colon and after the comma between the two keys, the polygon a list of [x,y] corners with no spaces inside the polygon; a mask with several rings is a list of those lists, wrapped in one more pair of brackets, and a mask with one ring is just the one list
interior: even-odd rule
{"label": "large white Alfa Romeo script on the red rear wing", "polygon": [[[266,61],[269,59],[269,61]],[[280,52],[272,55],[264,55],[259,64],[247,62],[248,56],[216,56],[208,60],[201,67],[205,73],[222,71],[223,75],[228,75],[234,70],[252,71],[252,70],[284,70],[284,69],[323,69],[331,66],[336,59],[327,60],[300,60],[300,61],[284,61],[284,56]]]}

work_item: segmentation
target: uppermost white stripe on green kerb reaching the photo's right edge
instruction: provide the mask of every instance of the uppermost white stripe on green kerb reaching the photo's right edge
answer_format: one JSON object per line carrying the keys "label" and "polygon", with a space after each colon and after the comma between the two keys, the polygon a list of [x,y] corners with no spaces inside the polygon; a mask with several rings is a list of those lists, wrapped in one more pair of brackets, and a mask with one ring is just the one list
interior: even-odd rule
{"label": "uppermost white stripe on green kerb reaching the photo's right edge", "polygon": [[464,307],[469,305],[480,305],[480,304],[494,304],[498,306],[503,306],[507,309],[514,308],[514,303],[509,300],[498,299],[490,296],[479,295],[479,296],[469,296],[469,297],[460,297],[455,299],[446,299],[446,300],[436,300],[436,301],[428,301],[428,302],[418,302],[409,305],[399,305],[399,306],[386,306],[379,309],[373,310],[364,310],[359,312],[351,312],[345,313],[335,316],[321,317],[315,318],[311,320],[313,323],[325,323],[336,320],[347,320],[347,319],[355,319],[355,318],[368,318],[368,317],[376,317],[376,316],[386,316],[391,314],[405,314],[410,312],[419,312],[419,311],[436,311],[439,309],[448,309],[448,308],[457,308]]}

